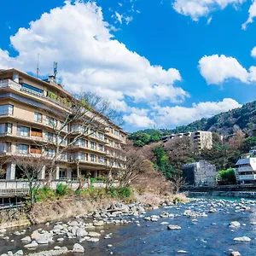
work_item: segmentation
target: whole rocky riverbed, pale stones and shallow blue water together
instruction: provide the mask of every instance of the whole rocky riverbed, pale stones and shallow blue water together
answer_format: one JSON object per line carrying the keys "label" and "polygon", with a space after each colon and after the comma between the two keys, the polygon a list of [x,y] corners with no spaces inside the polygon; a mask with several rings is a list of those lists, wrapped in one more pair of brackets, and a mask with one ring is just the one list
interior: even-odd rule
{"label": "whole rocky riverbed, pale stones and shallow blue water together", "polygon": [[256,201],[195,199],[146,210],[115,203],[65,222],[0,230],[0,254],[256,255]]}

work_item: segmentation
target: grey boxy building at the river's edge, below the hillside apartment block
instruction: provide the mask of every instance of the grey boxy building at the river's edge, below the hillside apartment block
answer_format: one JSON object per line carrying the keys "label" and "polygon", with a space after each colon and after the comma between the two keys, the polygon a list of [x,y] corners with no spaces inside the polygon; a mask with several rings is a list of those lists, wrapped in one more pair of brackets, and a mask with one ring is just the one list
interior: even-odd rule
{"label": "grey boxy building at the river's edge, below the hillside apartment block", "polygon": [[183,180],[190,186],[214,186],[216,185],[216,166],[206,160],[183,165]]}

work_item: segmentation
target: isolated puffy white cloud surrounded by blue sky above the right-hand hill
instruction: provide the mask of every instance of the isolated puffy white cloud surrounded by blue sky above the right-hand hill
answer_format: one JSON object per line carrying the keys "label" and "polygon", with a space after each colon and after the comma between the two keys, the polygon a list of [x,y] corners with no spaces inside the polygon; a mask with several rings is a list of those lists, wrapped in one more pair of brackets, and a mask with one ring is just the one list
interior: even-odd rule
{"label": "isolated puffy white cloud surrounded by blue sky above the right-hand hill", "polygon": [[222,84],[228,79],[239,79],[243,83],[250,80],[250,73],[233,57],[225,55],[204,56],[199,61],[201,75],[207,84]]}

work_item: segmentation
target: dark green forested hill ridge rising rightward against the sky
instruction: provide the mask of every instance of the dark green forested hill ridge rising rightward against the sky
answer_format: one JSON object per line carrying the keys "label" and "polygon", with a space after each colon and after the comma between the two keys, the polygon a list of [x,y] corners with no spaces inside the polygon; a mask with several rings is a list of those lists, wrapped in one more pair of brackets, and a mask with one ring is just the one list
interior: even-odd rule
{"label": "dark green forested hill ridge rising rightward against the sky", "polygon": [[224,136],[235,131],[250,131],[256,125],[256,101],[244,104],[241,108],[235,108],[228,112],[218,113],[209,119],[203,118],[189,125],[177,126],[175,129],[148,129],[131,133],[130,139],[137,146],[160,140],[160,137],[179,132],[188,131],[214,131]]}

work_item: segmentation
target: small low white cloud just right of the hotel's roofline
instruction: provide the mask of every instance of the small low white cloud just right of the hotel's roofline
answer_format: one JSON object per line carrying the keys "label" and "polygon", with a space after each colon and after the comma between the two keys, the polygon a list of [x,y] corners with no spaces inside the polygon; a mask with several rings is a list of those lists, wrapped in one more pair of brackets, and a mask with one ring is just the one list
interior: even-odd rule
{"label": "small low white cloud just right of the hotel's roofline", "polygon": [[146,115],[140,115],[137,113],[131,113],[124,116],[124,121],[128,125],[133,125],[137,128],[153,128],[154,120],[149,119]]}

